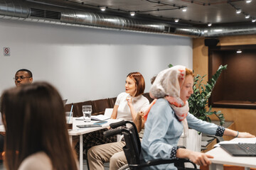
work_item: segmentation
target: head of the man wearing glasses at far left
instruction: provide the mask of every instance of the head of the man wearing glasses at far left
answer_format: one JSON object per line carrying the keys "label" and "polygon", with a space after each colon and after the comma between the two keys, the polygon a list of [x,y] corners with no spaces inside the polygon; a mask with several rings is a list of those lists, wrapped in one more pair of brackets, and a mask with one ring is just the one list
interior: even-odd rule
{"label": "head of the man wearing glasses at far left", "polygon": [[16,86],[31,84],[33,81],[33,75],[28,69],[19,69],[15,74],[14,80]]}

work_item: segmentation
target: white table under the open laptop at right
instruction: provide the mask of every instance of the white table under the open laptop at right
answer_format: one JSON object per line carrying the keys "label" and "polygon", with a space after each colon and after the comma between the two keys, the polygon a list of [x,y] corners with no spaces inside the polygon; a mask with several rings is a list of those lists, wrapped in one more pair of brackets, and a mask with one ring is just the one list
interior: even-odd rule
{"label": "white table under the open laptop at right", "polygon": [[[230,140],[230,142],[249,142],[255,143],[255,138],[235,138]],[[232,155],[225,152],[221,147],[215,147],[211,149],[206,154],[213,156],[213,159],[210,159],[212,164],[210,165],[210,170],[223,170],[223,164],[235,165],[235,166],[244,166],[246,170],[250,168],[256,168],[256,157],[233,157]]]}

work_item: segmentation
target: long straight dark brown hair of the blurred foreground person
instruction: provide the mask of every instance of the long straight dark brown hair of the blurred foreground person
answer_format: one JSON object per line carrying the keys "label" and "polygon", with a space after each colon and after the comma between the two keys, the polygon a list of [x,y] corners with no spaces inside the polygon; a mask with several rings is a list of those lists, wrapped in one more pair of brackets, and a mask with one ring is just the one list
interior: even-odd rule
{"label": "long straight dark brown hair of the blurred foreground person", "polygon": [[77,170],[70,146],[63,101],[46,82],[25,84],[4,91],[1,113],[7,169],[16,170],[26,157],[45,152],[53,169]]}

